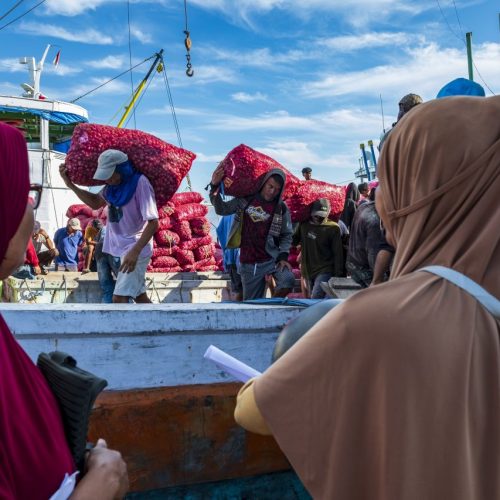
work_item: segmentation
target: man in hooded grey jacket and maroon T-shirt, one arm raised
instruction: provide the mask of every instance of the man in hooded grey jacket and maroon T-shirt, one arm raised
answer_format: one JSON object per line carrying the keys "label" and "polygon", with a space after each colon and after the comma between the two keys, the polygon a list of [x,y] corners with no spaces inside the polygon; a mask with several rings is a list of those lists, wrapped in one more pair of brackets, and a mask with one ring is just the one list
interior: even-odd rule
{"label": "man in hooded grey jacket and maroon T-shirt, one arm raised", "polygon": [[218,215],[235,214],[227,248],[240,248],[243,300],[262,298],[266,277],[276,282],[274,297],[286,297],[295,283],[288,253],[292,242],[290,212],[281,199],[286,176],[280,169],[267,173],[256,193],[222,199],[219,186],[224,170],[218,166],[210,183],[210,201]]}

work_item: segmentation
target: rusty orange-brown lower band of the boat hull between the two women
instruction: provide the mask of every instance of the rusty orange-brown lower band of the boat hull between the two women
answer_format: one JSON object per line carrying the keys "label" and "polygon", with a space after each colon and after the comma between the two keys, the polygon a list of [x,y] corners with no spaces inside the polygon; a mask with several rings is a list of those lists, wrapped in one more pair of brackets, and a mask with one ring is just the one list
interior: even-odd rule
{"label": "rusty orange-brown lower band of the boat hull between the two women", "polygon": [[241,384],[105,391],[89,437],[123,454],[132,491],[282,471],[290,466],[272,437],[233,418]]}

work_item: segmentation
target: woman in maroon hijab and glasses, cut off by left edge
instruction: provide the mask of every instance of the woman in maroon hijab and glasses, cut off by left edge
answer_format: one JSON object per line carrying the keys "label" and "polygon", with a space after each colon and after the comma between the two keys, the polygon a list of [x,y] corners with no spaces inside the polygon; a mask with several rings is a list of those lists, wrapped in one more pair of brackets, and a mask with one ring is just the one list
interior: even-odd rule
{"label": "woman in maroon hijab and glasses, cut off by left edge", "polygon": [[[0,279],[23,263],[33,230],[28,168],[23,136],[0,123]],[[126,465],[104,440],[87,469],[72,499],[125,494]],[[57,402],[0,315],[0,498],[47,500],[74,471]]]}

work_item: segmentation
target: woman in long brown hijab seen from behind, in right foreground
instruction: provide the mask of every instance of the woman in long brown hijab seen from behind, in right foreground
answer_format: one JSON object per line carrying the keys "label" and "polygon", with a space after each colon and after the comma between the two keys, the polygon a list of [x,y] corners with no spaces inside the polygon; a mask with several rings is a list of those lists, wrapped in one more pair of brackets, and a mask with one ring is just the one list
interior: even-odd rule
{"label": "woman in long brown hijab seen from behind, in right foreground", "polygon": [[[401,120],[377,193],[391,280],[238,395],[237,421],[272,433],[314,498],[500,497],[499,117],[500,97],[450,97]],[[429,265],[474,280],[493,309]]]}

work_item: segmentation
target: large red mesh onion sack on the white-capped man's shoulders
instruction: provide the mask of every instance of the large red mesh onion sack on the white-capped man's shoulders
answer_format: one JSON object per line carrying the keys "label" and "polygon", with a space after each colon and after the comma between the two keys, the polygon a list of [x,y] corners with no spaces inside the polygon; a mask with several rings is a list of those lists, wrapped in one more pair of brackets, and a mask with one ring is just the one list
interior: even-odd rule
{"label": "large red mesh onion sack on the white-capped man's shoulders", "polygon": [[69,178],[82,186],[102,184],[93,179],[97,159],[106,149],[126,153],[134,167],[151,182],[156,203],[164,205],[179,189],[196,155],[157,137],[141,132],[94,123],[76,126],[66,156]]}

